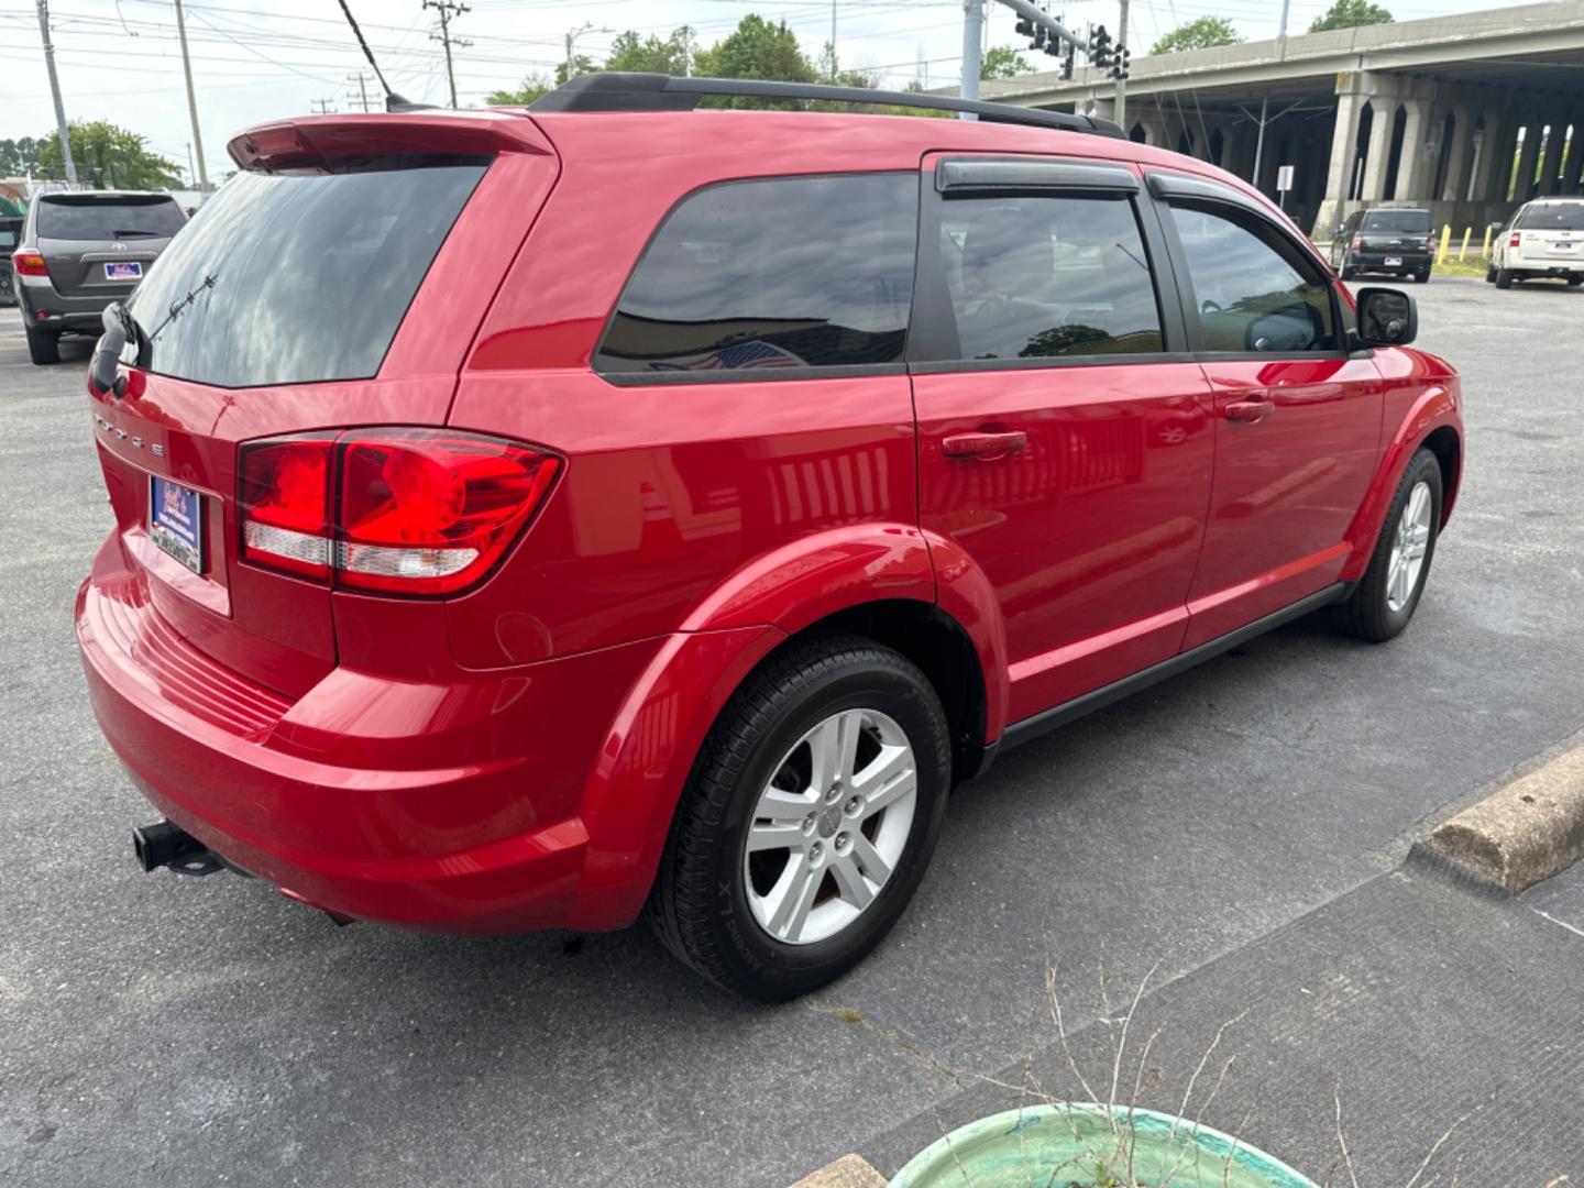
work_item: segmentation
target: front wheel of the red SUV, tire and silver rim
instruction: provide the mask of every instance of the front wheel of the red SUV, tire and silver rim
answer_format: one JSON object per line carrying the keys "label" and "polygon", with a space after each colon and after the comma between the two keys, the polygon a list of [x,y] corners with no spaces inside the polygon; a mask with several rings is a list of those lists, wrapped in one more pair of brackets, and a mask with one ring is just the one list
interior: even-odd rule
{"label": "front wheel of the red SUV, tire and silver rim", "polygon": [[[1422,504],[1415,501],[1421,488],[1424,488]],[[1384,643],[1408,626],[1424,594],[1424,583],[1430,578],[1440,523],[1441,467],[1434,453],[1419,450],[1408,461],[1391,507],[1386,508],[1386,520],[1375,542],[1370,565],[1364,570],[1364,580],[1353,588],[1345,602],[1334,607],[1334,621],[1342,630],[1370,643]],[[1418,524],[1418,543],[1422,550],[1418,572],[1411,572],[1411,564],[1405,569],[1394,564],[1399,535],[1407,531],[1405,524]],[[1394,577],[1397,577],[1396,584]]]}

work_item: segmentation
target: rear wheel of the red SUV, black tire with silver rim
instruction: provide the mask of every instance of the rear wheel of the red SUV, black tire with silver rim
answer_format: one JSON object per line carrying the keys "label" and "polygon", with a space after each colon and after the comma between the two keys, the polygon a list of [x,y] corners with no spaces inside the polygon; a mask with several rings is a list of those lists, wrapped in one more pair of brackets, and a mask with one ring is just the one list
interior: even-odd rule
{"label": "rear wheel of the red SUV, black tire with silver rim", "polygon": [[[855,781],[832,789],[835,800],[814,790],[824,782],[814,740],[833,741],[854,725],[862,727],[852,735],[860,776],[892,762],[881,743],[911,746],[909,814],[906,794],[870,816],[854,808],[862,802]],[[665,947],[727,990],[765,1001],[816,990],[857,965],[901,917],[935,851],[950,779],[946,713],[917,665],[859,637],[794,645],[749,676],[711,727],[672,822],[649,923]],[[878,787],[897,786],[893,778]],[[771,795],[787,813],[779,830],[775,817],[759,816]],[[795,844],[749,854],[756,825],[771,843],[784,833]],[[884,857],[889,874],[873,879],[870,859],[884,865]],[[794,895],[798,887],[808,895]],[[778,889],[779,900],[813,906],[778,919]],[[871,898],[859,906],[865,893]]]}

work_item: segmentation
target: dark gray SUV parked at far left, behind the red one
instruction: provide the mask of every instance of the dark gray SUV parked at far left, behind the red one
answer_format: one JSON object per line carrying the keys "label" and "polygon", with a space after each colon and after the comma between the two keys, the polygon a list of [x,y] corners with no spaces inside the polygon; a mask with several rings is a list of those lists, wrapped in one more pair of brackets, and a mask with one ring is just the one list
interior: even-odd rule
{"label": "dark gray SUV parked at far left, behind the red one", "polygon": [[62,334],[97,337],[105,307],[131,293],[185,225],[168,193],[40,195],[11,257],[33,363],[59,363]]}

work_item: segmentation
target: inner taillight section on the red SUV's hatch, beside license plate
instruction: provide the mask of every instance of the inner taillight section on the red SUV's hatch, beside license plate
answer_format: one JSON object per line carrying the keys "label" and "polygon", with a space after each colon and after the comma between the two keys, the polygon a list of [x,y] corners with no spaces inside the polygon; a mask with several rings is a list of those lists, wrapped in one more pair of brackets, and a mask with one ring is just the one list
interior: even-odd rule
{"label": "inner taillight section on the red SUV's hatch, beside license plate", "polygon": [[329,577],[329,455],[333,437],[242,447],[236,504],[242,559],[306,578]]}

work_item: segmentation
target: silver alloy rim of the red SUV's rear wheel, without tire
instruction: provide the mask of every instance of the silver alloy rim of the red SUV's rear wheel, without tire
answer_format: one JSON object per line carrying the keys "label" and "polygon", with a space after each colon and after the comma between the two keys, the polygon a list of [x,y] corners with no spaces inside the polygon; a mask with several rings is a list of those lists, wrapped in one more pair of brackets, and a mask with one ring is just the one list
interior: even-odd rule
{"label": "silver alloy rim of the red SUV's rear wheel, without tire", "polygon": [[841,710],[798,738],[743,844],[759,927],[784,944],[814,944],[857,920],[901,860],[917,794],[912,744],[879,710]]}

